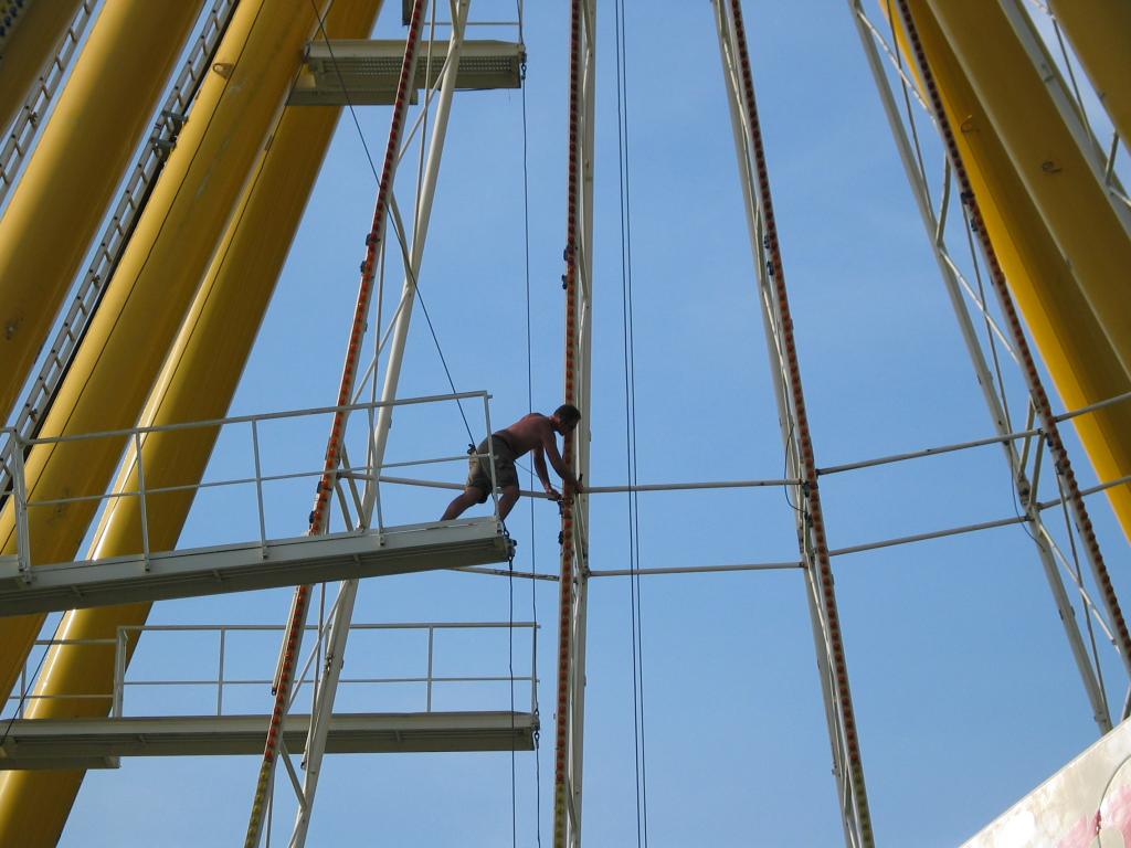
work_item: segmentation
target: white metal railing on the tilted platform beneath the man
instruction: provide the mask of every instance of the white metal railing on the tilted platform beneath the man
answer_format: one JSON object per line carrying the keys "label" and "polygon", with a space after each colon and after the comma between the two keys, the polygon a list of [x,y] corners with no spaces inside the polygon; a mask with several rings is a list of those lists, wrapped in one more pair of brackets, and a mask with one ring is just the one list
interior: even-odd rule
{"label": "white metal railing on the tilted platform beneath the man", "polygon": [[[154,546],[150,544],[152,534],[149,530],[149,518],[154,513],[155,509],[154,502],[158,501],[162,496],[169,496],[174,494],[191,493],[193,497],[197,494],[205,491],[215,490],[243,490],[249,494],[245,496],[245,503],[243,508],[245,512],[242,513],[245,518],[251,518],[253,516],[256,521],[256,529],[248,531],[249,538],[242,539],[231,539],[224,538],[222,540],[216,540],[213,544],[235,544],[248,543],[252,540],[258,540],[261,547],[266,551],[267,540],[274,538],[274,536],[268,534],[268,507],[267,499],[265,497],[265,491],[276,484],[293,483],[296,481],[308,481],[318,482],[322,476],[321,466],[317,467],[300,467],[294,470],[286,470],[282,473],[265,473],[265,447],[264,447],[264,435],[265,432],[271,427],[277,426],[283,423],[302,422],[302,419],[313,421],[316,418],[326,418],[337,412],[346,413],[346,423],[344,425],[344,431],[349,439],[352,439],[352,444],[355,448],[360,448],[360,456],[364,461],[351,464],[347,455],[344,452],[343,464],[338,468],[338,474],[335,483],[336,487],[336,503],[339,512],[337,518],[342,522],[342,529],[346,533],[353,533],[359,529],[372,529],[378,530],[385,529],[385,521],[381,511],[381,497],[380,497],[380,477],[381,470],[385,466],[373,469],[369,465],[371,445],[373,444],[374,427],[375,427],[375,412],[381,407],[411,407],[421,406],[428,404],[442,404],[442,403],[459,403],[461,400],[478,400],[483,405],[483,432],[491,432],[491,416],[490,416],[490,395],[485,391],[468,391],[458,392],[450,395],[434,395],[429,397],[420,398],[404,398],[391,401],[371,401],[362,404],[353,404],[349,406],[330,406],[330,407],[317,407],[309,409],[300,409],[294,412],[282,412],[282,413],[268,413],[262,415],[244,415],[234,416],[228,418],[216,418],[211,421],[204,422],[192,422],[184,424],[169,424],[162,426],[148,426],[148,427],[133,427],[130,430],[118,430],[109,431],[104,433],[90,433],[80,435],[64,435],[64,436],[51,436],[51,438],[36,438],[28,439],[21,436],[18,431],[14,429],[2,429],[0,430],[0,470],[6,471],[11,479],[11,491],[7,493],[8,503],[5,504],[5,510],[15,510],[15,526],[16,526],[16,554],[10,556],[0,556],[0,562],[3,561],[15,561],[18,563],[19,573],[25,580],[32,579],[31,569],[33,565],[45,565],[53,564],[49,562],[41,562],[35,559],[35,552],[32,550],[32,525],[36,521],[37,517],[44,511],[54,511],[66,508],[69,504],[95,504],[96,509],[110,509],[113,508],[119,501],[133,499],[138,502],[138,508],[140,510],[140,538],[138,539],[138,551],[144,555],[146,560],[152,554],[159,553],[161,551],[155,551]],[[353,425],[353,427],[351,427]],[[152,457],[147,457],[146,444],[147,440],[158,433],[163,434],[196,434],[199,436],[201,431],[213,431],[214,443],[219,443],[222,438],[232,439],[231,435],[234,431],[242,430],[244,435],[241,436],[244,441],[243,444],[247,445],[247,455],[250,456],[252,460],[252,470],[250,474],[242,474],[240,476],[224,476],[222,478],[202,478],[195,482],[181,482],[175,485],[156,485],[152,477],[156,474],[150,474],[154,469],[147,466],[147,460],[152,462]],[[320,433],[321,431],[312,430],[312,438],[314,433]],[[96,443],[100,441],[105,442],[110,440],[114,443],[120,443],[121,449],[127,451],[126,460],[123,467],[129,468],[135,471],[133,479],[136,481],[136,486],[130,486],[126,488],[114,488],[110,492],[103,493],[85,493],[85,494],[74,494],[64,497],[41,497],[36,496],[27,478],[25,457],[36,447],[36,445],[54,445],[62,443]],[[293,444],[291,440],[284,440],[286,443],[280,444],[275,450],[277,452],[285,453],[290,457],[293,450],[288,449],[290,444]],[[487,452],[482,456],[487,459],[489,467],[491,469],[492,483],[494,483],[494,451],[491,440],[486,440]],[[225,447],[231,447],[231,443],[225,442]],[[271,457],[268,457],[271,458]],[[466,462],[468,455],[459,456],[441,456],[441,457],[422,457],[412,459],[408,461],[390,462],[387,467],[405,467],[411,465],[430,465],[435,462],[454,462],[460,461]],[[214,464],[215,465],[215,464]],[[148,478],[147,478],[148,476]],[[375,514],[365,516],[362,510],[362,494],[359,491],[359,484],[361,485],[372,485],[375,491]],[[348,490],[348,495],[347,495]],[[253,493],[253,494],[251,494]],[[303,492],[302,497],[307,497],[305,492]],[[0,497],[3,497],[5,493],[0,492]],[[498,516],[498,496],[493,495],[494,502],[494,514]],[[295,514],[304,514],[303,508],[296,505],[294,499],[287,499],[285,504],[276,508],[280,514],[293,517]],[[231,518],[231,517],[230,517]],[[230,523],[230,522],[225,522]],[[340,530],[339,530],[340,531]],[[301,534],[288,534],[287,538],[297,536]],[[202,546],[202,545],[201,545]]]}

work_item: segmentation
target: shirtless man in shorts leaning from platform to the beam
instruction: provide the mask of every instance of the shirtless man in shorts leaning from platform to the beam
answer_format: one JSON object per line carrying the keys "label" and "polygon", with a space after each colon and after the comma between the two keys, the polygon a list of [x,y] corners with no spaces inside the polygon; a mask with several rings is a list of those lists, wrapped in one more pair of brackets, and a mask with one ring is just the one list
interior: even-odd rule
{"label": "shirtless man in shorts leaning from platform to the beam", "polygon": [[[554,433],[568,436],[580,419],[581,413],[576,406],[562,404],[549,417],[541,413],[530,413],[524,415],[506,430],[500,430],[491,435],[491,449],[495,460],[495,482],[502,490],[502,496],[499,499],[499,518],[506,519],[518,500],[518,471],[515,468],[515,460],[527,451],[534,451],[534,470],[537,473],[538,479],[542,481],[542,487],[552,499],[560,500],[561,495],[558,490],[550,485],[550,475],[546,473],[546,456],[550,457],[550,465],[566,483],[567,494],[570,493],[570,490],[578,494],[585,491],[573,473],[562,461],[561,455],[558,452],[558,441],[554,439]],[[475,452],[482,455],[482,459],[472,457],[468,460],[467,484],[464,493],[448,504],[441,521],[459,518],[464,510],[472,504],[485,503],[491,494],[491,466],[486,456],[486,439],[480,442]]]}

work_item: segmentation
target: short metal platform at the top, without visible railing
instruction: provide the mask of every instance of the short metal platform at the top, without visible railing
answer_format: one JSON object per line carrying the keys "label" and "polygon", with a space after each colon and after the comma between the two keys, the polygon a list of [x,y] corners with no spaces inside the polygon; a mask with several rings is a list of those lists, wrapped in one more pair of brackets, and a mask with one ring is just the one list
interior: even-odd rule
{"label": "short metal platform at the top, without visible railing", "polygon": [[[307,64],[287,105],[388,105],[396,94],[404,54],[405,43],[396,40],[310,42]],[[447,57],[447,41],[420,45],[414,98],[416,90],[435,83]],[[460,47],[456,88],[465,92],[519,88],[525,57],[525,47],[517,42],[466,41]]]}

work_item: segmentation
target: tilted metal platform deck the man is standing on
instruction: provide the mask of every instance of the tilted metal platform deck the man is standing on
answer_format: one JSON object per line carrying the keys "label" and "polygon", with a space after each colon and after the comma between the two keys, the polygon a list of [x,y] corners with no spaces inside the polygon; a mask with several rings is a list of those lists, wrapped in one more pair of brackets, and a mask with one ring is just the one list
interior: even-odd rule
{"label": "tilted metal platform deck the man is standing on", "polygon": [[511,544],[492,517],[41,565],[28,582],[3,556],[0,615],[483,565],[506,562]]}

